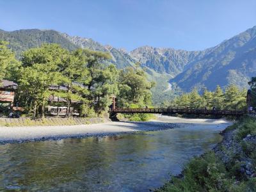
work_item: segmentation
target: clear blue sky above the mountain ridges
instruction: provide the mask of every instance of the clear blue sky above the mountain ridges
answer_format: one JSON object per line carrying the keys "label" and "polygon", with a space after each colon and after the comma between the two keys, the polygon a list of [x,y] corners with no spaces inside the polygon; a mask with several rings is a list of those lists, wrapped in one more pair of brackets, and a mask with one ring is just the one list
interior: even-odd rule
{"label": "clear blue sky above the mountain ridges", "polygon": [[0,29],[55,29],[131,51],[189,51],[256,25],[256,0],[0,0]]}

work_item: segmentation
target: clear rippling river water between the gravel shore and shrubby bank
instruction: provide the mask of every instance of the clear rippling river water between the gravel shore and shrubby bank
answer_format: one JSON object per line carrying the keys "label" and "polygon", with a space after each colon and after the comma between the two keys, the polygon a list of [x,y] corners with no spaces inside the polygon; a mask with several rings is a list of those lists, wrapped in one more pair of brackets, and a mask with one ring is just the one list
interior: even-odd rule
{"label": "clear rippling river water between the gravel shore and shrubby bank", "polygon": [[227,125],[0,145],[0,191],[148,191],[221,141]]}

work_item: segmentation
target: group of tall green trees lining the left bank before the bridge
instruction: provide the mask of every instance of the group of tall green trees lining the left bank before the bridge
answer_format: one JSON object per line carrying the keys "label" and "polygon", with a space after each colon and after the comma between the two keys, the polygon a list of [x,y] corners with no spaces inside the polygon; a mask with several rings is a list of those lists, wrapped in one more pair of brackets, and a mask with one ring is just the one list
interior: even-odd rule
{"label": "group of tall green trees lining the left bank before the bridge", "polygon": [[[140,65],[118,70],[115,65],[102,64],[109,59],[106,52],[68,51],[58,44],[43,44],[22,52],[17,60],[8,43],[0,42],[0,80],[19,85],[14,104],[34,117],[44,118],[49,97],[65,99],[54,105],[67,106],[68,110],[73,105],[81,116],[88,117],[104,114],[113,96],[121,98],[123,106],[152,104],[150,89],[154,83],[147,81]],[[60,86],[64,88],[52,89]]]}

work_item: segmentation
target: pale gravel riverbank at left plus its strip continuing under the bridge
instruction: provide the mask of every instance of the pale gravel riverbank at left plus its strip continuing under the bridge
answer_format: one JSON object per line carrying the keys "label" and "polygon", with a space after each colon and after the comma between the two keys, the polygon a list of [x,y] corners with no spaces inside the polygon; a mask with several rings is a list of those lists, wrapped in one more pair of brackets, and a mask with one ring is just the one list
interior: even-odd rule
{"label": "pale gravel riverbank at left plus its strip continuing under the bridge", "polygon": [[106,136],[111,134],[132,133],[138,131],[157,131],[180,126],[195,124],[223,124],[226,120],[186,119],[171,116],[157,116],[157,120],[150,122],[105,122],[88,125],[41,125],[41,126],[13,126],[0,127],[0,142],[13,143],[38,140],[60,140],[62,138],[82,138],[84,136]]}

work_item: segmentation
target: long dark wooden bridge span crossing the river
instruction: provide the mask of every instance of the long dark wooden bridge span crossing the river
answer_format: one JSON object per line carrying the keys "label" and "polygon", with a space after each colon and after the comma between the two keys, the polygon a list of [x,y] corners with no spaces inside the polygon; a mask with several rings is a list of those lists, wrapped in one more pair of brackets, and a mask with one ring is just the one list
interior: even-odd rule
{"label": "long dark wooden bridge span crossing the river", "polygon": [[160,113],[160,114],[195,114],[195,115],[244,115],[245,111],[232,111],[232,110],[205,110],[205,109],[125,109],[116,108],[109,110],[109,113]]}

